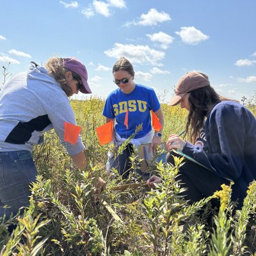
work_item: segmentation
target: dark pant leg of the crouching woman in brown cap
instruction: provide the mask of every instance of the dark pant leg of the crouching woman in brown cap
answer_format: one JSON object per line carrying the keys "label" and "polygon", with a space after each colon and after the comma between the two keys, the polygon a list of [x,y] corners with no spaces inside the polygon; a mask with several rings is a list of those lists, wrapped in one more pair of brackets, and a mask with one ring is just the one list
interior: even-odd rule
{"label": "dark pant leg of the crouching woman in brown cap", "polygon": [[[174,163],[173,156],[180,157],[173,152],[166,155],[167,163]],[[230,184],[227,179],[221,178],[215,173],[205,169],[204,167],[185,159],[184,165],[179,169],[181,188],[187,188],[183,193],[184,198],[189,200],[189,204],[193,204],[204,197],[211,196],[217,190],[221,189],[221,184]]]}

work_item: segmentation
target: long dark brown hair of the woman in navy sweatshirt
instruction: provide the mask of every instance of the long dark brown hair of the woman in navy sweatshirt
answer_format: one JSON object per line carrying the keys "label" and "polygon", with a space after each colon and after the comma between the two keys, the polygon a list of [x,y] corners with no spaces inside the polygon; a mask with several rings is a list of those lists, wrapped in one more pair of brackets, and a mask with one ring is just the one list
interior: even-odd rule
{"label": "long dark brown hair of the woman in navy sweatshirt", "polygon": [[224,100],[232,99],[219,95],[211,86],[198,88],[189,93],[189,114],[186,124],[186,133],[188,133],[191,142],[195,143],[204,125],[205,116],[211,112],[216,104]]}

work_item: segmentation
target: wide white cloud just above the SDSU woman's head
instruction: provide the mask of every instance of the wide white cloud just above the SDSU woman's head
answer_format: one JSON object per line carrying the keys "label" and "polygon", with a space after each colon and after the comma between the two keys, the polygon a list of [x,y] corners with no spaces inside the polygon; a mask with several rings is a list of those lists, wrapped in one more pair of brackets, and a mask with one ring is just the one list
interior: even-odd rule
{"label": "wide white cloud just above the SDSU woman's head", "polygon": [[148,45],[118,44],[115,43],[112,49],[104,51],[111,58],[120,58],[124,56],[131,63],[150,63],[151,65],[161,65],[159,61],[165,56],[163,51],[156,51]]}

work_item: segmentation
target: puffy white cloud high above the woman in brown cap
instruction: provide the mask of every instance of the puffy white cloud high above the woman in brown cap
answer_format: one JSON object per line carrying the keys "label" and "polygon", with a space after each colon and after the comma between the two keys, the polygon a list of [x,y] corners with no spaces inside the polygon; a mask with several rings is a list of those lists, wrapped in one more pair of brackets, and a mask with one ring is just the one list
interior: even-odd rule
{"label": "puffy white cloud high above the woman in brown cap", "polygon": [[204,35],[195,27],[182,27],[180,31],[175,32],[185,44],[198,44],[201,41],[209,39],[209,36]]}

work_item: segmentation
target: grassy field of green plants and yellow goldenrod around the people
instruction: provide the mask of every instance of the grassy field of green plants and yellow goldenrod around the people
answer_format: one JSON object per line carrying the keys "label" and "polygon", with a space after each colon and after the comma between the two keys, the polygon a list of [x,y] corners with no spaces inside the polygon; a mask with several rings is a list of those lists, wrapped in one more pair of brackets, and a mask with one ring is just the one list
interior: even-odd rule
{"label": "grassy field of green plants and yellow goldenrod around the people", "polygon": [[[135,172],[120,180],[116,172],[106,173],[109,145],[100,147],[95,132],[105,122],[104,100],[71,103],[90,166],[77,170],[56,134],[47,133],[33,152],[39,175],[30,206],[19,218],[1,221],[0,255],[255,255],[256,183],[248,189],[243,209],[234,212],[232,185],[192,206],[180,198],[175,176],[182,159],[176,159],[176,166],[148,168],[163,179],[157,189],[150,191]],[[248,107],[256,115],[255,105]],[[187,112],[166,104],[162,109],[166,141],[170,132],[184,130]],[[132,163],[136,170],[138,156]],[[88,170],[108,183],[100,197],[93,193]],[[140,186],[134,188],[134,183]],[[212,209],[213,197],[220,198],[220,209]],[[10,223],[18,223],[12,235],[7,232]]]}

